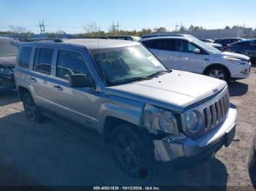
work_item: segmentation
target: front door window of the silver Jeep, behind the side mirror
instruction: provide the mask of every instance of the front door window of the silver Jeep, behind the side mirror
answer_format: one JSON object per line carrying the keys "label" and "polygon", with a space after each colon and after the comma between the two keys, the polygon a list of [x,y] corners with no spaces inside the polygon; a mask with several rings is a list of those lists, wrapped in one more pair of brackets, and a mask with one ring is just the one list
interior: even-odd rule
{"label": "front door window of the silver Jeep, behind the side mirror", "polygon": [[88,74],[88,68],[81,54],[75,51],[58,51],[57,77],[68,78],[69,74]]}

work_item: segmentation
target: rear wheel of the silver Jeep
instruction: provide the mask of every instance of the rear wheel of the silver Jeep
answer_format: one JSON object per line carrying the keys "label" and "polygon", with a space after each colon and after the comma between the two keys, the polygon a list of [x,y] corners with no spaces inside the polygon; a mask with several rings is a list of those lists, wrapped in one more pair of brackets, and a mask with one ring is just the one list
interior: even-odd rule
{"label": "rear wheel of the silver Jeep", "polygon": [[38,110],[31,94],[25,93],[22,97],[23,107],[28,120],[35,123],[42,123],[43,117],[41,112]]}

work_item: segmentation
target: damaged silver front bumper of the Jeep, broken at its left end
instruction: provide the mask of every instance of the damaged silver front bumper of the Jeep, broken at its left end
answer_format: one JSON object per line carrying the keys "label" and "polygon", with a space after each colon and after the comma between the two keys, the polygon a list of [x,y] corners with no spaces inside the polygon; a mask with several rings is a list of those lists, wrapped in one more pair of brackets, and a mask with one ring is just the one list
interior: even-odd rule
{"label": "damaged silver front bumper of the Jeep, broken at its left end", "polygon": [[155,160],[158,162],[186,161],[187,159],[200,161],[204,156],[214,156],[223,145],[228,147],[233,140],[236,119],[237,109],[231,105],[226,120],[198,139],[192,140],[181,133],[162,140],[154,140]]}

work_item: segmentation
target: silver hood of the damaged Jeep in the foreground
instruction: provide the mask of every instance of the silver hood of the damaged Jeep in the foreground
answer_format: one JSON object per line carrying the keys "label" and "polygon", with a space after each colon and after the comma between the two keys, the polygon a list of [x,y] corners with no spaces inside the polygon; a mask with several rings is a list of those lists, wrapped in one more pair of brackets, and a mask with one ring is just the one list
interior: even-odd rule
{"label": "silver hood of the damaged Jeep in the foreground", "polygon": [[181,111],[221,91],[225,81],[185,71],[162,74],[151,80],[106,87],[108,94]]}

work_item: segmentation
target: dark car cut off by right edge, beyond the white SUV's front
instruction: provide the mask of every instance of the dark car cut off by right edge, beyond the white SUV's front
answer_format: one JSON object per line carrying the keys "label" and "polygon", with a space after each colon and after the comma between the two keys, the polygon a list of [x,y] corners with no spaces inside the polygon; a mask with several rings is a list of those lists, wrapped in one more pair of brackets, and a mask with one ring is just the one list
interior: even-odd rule
{"label": "dark car cut off by right edge, beyond the white SUV's front", "polygon": [[227,51],[247,55],[251,61],[256,61],[256,39],[248,39],[228,44]]}

